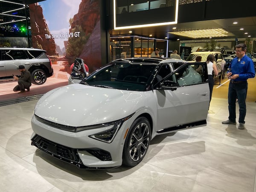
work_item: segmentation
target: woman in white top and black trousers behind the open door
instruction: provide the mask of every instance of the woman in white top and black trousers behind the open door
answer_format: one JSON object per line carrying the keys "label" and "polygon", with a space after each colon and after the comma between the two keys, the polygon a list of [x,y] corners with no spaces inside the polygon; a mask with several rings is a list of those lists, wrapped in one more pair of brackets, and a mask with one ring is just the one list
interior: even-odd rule
{"label": "woman in white top and black trousers behind the open door", "polygon": [[218,70],[214,62],[214,55],[210,54],[207,56],[206,63],[207,63],[207,70],[208,70],[208,82],[209,82],[209,89],[210,89],[210,102],[212,100],[212,90],[213,90],[213,77],[212,77],[212,71],[214,72],[215,76],[218,75]]}

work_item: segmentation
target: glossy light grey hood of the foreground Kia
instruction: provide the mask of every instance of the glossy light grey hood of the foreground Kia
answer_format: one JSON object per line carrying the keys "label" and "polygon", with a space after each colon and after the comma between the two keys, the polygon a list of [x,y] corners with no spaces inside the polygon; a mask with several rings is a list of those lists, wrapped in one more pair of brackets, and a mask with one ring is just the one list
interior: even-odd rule
{"label": "glossy light grey hood of the foreground Kia", "polygon": [[131,115],[145,106],[144,98],[141,91],[71,84],[46,93],[34,113],[61,125],[96,125]]}

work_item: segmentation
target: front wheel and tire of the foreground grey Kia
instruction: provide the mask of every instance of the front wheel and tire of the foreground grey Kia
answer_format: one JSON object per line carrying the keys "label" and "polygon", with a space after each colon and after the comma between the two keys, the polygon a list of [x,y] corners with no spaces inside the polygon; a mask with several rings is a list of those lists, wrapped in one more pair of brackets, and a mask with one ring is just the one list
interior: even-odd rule
{"label": "front wheel and tire of the foreground grey Kia", "polygon": [[140,117],[136,119],[128,131],[123,149],[123,164],[136,166],[148,151],[151,140],[151,126],[148,119]]}

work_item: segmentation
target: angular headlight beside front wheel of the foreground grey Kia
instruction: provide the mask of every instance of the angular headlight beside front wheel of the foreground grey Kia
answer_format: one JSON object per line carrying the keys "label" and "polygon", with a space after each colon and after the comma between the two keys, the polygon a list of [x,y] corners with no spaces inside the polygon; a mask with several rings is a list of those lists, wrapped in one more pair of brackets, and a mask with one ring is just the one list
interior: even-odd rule
{"label": "angular headlight beside front wheel of the foreground grey Kia", "polygon": [[93,138],[95,140],[105,142],[105,143],[111,143],[114,140],[114,138],[115,138],[117,132],[119,131],[120,127],[122,126],[123,122],[125,122],[127,119],[130,119],[131,116],[133,116],[133,114],[131,114],[123,119],[120,119],[118,121],[108,123],[109,126],[105,127],[106,128],[105,131],[89,135],[89,137]]}

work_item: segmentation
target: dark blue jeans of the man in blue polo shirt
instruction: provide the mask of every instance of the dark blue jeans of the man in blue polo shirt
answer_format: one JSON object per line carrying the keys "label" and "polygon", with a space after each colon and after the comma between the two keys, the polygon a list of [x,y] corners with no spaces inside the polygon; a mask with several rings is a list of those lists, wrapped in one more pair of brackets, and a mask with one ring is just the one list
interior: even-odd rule
{"label": "dark blue jeans of the man in blue polo shirt", "polygon": [[230,81],[228,87],[228,110],[230,121],[236,122],[236,98],[239,105],[239,123],[245,123],[244,118],[246,114],[245,99],[247,96],[248,83],[247,81],[241,83],[232,83]]}

